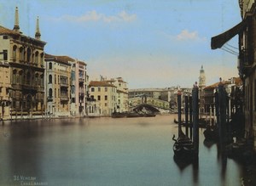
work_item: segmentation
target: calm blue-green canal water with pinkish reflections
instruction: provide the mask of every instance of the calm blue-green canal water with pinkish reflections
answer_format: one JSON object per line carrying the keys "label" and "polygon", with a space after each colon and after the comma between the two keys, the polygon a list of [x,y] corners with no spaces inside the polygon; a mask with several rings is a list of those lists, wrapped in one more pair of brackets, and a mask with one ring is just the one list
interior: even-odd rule
{"label": "calm blue-green canal water with pinkish reflections", "polygon": [[0,185],[241,185],[242,166],[201,129],[198,165],[177,165],[176,117],[5,121]]}

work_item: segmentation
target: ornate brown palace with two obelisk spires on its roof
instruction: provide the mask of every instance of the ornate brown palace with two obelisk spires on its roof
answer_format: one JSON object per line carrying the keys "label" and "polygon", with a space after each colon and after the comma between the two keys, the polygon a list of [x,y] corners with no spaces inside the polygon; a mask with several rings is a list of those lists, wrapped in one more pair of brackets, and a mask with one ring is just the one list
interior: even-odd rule
{"label": "ornate brown palace with two obelisk spires on its roof", "polygon": [[1,117],[32,118],[44,113],[44,46],[37,19],[35,38],[20,31],[15,9],[13,30],[0,25]]}

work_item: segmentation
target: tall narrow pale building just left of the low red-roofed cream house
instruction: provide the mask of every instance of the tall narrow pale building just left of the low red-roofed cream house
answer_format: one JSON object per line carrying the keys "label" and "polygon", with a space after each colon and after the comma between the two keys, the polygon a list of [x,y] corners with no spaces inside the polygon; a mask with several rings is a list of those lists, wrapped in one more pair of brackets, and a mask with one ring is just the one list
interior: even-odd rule
{"label": "tall narrow pale building just left of the low red-roofed cream house", "polygon": [[74,59],[70,62],[71,70],[71,105],[72,116],[86,116],[87,94],[88,94],[88,75],[87,64],[84,61]]}

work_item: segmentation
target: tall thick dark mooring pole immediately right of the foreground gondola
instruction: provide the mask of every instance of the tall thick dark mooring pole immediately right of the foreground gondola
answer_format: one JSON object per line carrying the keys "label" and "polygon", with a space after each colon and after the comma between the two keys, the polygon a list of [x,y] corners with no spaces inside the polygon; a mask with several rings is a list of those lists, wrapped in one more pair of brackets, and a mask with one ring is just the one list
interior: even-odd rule
{"label": "tall thick dark mooring pole immediately right of the foreground gondola", "polygon": [[195,157],[198,157],[199,152],[199,105],[198,105],[198,92],[199,88],[197,82],[192,90],[192,109],[193,109],[193,143],[195,150]]}

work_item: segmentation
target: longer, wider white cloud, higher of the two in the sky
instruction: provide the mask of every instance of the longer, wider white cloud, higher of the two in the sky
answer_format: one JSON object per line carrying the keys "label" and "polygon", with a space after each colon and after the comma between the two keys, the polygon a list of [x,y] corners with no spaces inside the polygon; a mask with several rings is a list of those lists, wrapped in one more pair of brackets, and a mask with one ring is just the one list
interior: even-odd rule
{"label": "longer, wider white cloud, higher of the two in the sky", "polygon": [[137,14],[128,14],[125,11],[121,11],[119,14],[115,15],[106,15],[106,14],[99,14],[96,10],[91,10],[86,14],[82,14],[80,16],[73,16],[73,15],[62,15],[59,18],[54,18],[52,20],[55,21],[70,21],[70,22],[88,22],[88,21],[103,21],[106,23],[111,22],[131,22],[137,19]]}

